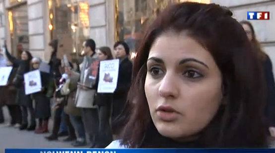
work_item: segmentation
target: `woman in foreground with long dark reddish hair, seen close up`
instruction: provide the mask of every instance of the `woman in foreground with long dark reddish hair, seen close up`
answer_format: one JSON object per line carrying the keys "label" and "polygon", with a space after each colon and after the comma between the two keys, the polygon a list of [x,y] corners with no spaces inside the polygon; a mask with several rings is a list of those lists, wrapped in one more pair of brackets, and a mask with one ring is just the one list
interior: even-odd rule
{"label": "woman in foreground with long dark reddish hair, seen close up", "polygon": [[231,16],[192,2],[159,14],[134,61],[129,121],[107,148],[267,147],[260,61]]}

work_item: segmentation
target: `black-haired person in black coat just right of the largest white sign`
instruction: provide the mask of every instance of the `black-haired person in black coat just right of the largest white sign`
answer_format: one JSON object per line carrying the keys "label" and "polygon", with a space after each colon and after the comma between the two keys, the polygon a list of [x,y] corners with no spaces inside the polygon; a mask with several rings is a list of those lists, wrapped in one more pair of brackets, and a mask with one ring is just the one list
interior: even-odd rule
{"label": "black-haired person in black coat just right of the largest white sign", "polygon": [[124,125],[124,121],[119,119],[119,115],[125,108],[128,91],[132,83],[133,64],[129,60],[130,50],[125,42],[115,43],[114,51],[116,58],[120,60],[120,65],[117,88],[113,94],[112,130],[113,134],[119,134]]}

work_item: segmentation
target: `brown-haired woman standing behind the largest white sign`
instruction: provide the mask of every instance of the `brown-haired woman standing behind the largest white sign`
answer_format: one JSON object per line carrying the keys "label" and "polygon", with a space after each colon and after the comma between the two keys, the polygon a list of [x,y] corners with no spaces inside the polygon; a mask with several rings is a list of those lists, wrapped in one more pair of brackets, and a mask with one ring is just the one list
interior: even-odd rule
{"label": "brown-haired woman standing behind the largest white sign", "polygon": [[[97,51],[97,56],[100,61],[113,59],[111,49],[109,47],[101,47]],[[99,82],[99,67],[95,82],[95,90],[98,88]],[[111,117],[111,104],[112,104],[113,94],[107,93],[97,93],[95,96],[95,104],[98,106],[98,116],[99,116],[99,127],[98,135],[96,136],[96,146],[95,148],[105,148],[113,140],[112,130],[110,125]]]}

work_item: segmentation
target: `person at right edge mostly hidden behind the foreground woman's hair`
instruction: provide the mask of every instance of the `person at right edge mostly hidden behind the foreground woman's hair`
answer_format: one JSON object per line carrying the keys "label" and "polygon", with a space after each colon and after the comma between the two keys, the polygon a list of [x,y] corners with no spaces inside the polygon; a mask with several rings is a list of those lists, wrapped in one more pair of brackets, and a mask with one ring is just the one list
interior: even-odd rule
{"label": "person at right edge mostly hidden behind the foreground woman's hair", "polygon": [[269,132],[272,137],[275,137],[275,81],[272,71],[272,62],[270,57],[261,49],[260,43],[256,38],[254,28],[248,21],[240,22],[246,32],[252,47],[258,52],[259,58],[262,61],[263,72],[267,87],[267,102],[265,107],[265,116],[269,126]]}

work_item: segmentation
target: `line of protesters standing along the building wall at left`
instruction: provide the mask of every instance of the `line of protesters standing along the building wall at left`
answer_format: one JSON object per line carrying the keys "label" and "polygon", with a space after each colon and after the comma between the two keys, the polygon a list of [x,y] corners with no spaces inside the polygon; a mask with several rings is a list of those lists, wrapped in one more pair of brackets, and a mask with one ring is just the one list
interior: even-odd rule
{"label": "line of protesters standing along the building wall at left", "polygon": [[[29,51],[22,51],[19,58],[14,57],[4,46],[1,66],[12,66],[7,85],[0,87],[1,107],[6,105],[10,115],[7,126],[34,131],[36,134],[48,133],[48,123],[52,117],[51,134],[45,137],[48,141],[67,136],[63,141],[72,141],[74,147],[88,145],[90,148],[105,148],[118,135],[114,131],[120,131],[123,126],[115,121],[124,109],[131,86],[133,66],[128,45],[124,42],[114,45],[115,58],[120,60],[120,68],[117,88],[113,94],[97,93],[99,65],[95,83],[91,88],[85,87],[79,84],[80,74],[89,65],[84,65],[84,61],[82,65],[78,64],[77,59],[65,64],[63,59],[57,57],[58,40],[51,41],[49,46],[52,48],[48,63],[50,72],[40,71],[42,89],[30,95],[25,94],[23,75],[39,69],[42,60],[32,57]],[[96,49],[92,39],[83,42],[83,52],[84,57],[98,61],[114,59],[109,47]],[[0,121],[4,122],[2,112]]]}

